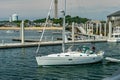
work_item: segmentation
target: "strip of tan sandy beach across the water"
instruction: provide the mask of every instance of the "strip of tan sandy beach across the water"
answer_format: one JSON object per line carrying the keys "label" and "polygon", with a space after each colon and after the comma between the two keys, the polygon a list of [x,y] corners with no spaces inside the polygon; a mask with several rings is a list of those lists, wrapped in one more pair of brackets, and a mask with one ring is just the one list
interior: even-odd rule
{"label": "strip of tan sandy beach across the water", "polygon": [[[25,30],[43,30],[44,27],[25,27]],[[62,27],[45,27],[46,30],[62,30]],[[20,30],[20,27],[0,27],[0,30]]]}

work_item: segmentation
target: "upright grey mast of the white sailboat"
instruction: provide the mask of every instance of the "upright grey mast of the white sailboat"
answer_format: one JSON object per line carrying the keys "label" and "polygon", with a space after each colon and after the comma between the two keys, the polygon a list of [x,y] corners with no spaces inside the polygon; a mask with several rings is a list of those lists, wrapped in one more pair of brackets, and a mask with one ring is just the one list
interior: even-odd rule
{"label": "upright grey mast of the white sailboat", "polygon": [[63,39],[63,43],[62,43],[62,50],[63,53],[65,52],[65,16],[66,16],[66,0],[64,3],[64,10],[62,11],[63,13],[63,33],[62,33],[62,39]]}

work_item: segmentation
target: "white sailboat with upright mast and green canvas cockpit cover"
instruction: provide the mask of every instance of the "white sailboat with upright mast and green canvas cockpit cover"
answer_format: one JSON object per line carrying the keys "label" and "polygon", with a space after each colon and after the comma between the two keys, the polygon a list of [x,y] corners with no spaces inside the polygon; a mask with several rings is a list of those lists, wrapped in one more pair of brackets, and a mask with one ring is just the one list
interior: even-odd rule
{"label": "white sailboat with upright mast and green canvas cockpit cover", "polygon": [[37,56],[36,61],[39,66],[62,66],[62,65],[79,65],[96,63],[103,60],[103,51],[92,51],[86,46],[81,47],[80,50],[72,51],[69,48],[65,51],[65,14],[66,14],[66,0],[65,10],[63,13],[63,33],[62,33],[62,50],[61,53],[54,53],[45,56]]}

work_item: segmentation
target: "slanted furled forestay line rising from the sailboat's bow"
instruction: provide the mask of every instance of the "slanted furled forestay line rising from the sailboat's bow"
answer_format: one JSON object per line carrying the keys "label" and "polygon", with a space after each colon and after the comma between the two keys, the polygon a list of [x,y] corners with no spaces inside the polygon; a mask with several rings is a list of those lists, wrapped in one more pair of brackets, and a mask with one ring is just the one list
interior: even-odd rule
{"label": "slanted furled forestay line rising from the sailboat's bow", "polygon": [[43,28],[42,35],[41,35],[41,37],[40,37],[40,39],[39,39],[39,44],[38,44],[38,48],[37,48],[37,50],[36,50],[36,54],[39,52],[40,44],[41,44],[41,41],[42,41],[42,38],[43,38],[43,35],[44,35],[44,32],[45,32],[45,27],[46,27],[47,24],[48,24],[48,19],[49,19],[49,16],[50,16],[52,7],[53,7],[53,0],[51,1],[51,4],[50,4],[49,12],[48,12],[48,15],[47,15],[47,17],[46,17],[46,21],[45,21],[45,25],[44,25],[44,28]]}

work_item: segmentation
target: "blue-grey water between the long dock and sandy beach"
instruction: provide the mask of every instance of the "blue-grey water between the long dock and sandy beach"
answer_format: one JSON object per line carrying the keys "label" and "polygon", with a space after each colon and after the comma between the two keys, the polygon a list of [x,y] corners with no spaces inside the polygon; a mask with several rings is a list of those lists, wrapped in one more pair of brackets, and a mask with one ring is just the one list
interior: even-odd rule
{"label": "blue-grey water between the long dock and sandy beach", "polygon": [[[4,41],[4,43],[18,43],[17,41],[12,41],[13,38],[20,38],[20,31],[10,30],[10,33],[7,33],[7,30],[0,30],[0,43]],[[38,40],[40,39],[41,33],[38,32],[39,30],[25,30],[25,39],[33,39]],[[58,37],[61,37],[61,34],[54,34],[53,30],[46,30],[43,40],[44,41],[52,41],[57,40]]]}

